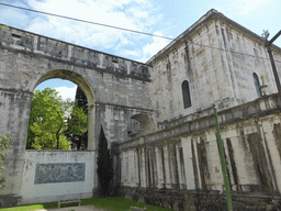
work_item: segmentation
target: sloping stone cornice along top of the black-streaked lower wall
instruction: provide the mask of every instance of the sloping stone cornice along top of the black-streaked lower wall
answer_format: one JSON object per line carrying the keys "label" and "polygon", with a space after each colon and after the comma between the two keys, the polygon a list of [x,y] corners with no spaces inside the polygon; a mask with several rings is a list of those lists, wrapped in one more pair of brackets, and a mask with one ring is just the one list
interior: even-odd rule
{"label": "sloping stone cornice along top of the black-streaked lower wall", "polygon": [[[217,114],[218,122],[223,129],[229,124],[243,123],[250,119],[259,119],[278,112],[280,112],[280,106],[278,106],[278,96],[270,95],[241,106],[218,111]],[[136,140],[120,143],[120,149],[125,151],[149,144],[157,144],[159,142],[168,142],[182,136],[196,134],[209,129],[215,129],[215,119],[213,114],[143,135]]]}

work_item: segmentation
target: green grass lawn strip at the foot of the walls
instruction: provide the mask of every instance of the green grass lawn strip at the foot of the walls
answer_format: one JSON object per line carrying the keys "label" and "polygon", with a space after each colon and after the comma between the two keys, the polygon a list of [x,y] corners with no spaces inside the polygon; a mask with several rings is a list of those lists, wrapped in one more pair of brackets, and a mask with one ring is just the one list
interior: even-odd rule
{"label": "green grass lawn strip at the foot of the walls", "polygon": [[[128,199],[124,199],[122,197],[82,199],[81,206],[87,206],[87,204],[93,204],[97,208],[105,208],[106,210],[113,210],[113,211],[128,211],[131,207],[146,208],[146,210],[148,211],[168,211],[165,208],[132,201]],[[77,206],[77,203],[61,204],[61,208],[71,207],[71,206]],[[47,208],[57,208],[57,202],[22,206],[22,207],[14,207],[14,208],[3,208],[3,209],[0,209],[0,211],[32,211],[32,210],[40,210],[40,209],[47,209]]]}

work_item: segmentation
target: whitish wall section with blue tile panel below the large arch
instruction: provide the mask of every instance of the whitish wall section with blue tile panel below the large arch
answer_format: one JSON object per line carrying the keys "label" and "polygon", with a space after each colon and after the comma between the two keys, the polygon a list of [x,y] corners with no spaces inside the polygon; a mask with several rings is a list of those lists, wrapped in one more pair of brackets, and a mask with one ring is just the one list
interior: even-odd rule
{"label": "whitish wall section with blue tile panel below the large arch", "polygon": [[26,151],[21,204],[91,198],[93,151]]}

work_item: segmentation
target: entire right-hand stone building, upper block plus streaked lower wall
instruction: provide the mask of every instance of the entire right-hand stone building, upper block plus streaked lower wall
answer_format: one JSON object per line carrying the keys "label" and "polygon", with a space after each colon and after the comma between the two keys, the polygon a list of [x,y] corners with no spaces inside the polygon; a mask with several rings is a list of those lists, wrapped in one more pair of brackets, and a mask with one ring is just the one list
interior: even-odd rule
{"label": "entire right-hand stone building, upper block plus streaked lower wall", "polygon": [[279,210],[281,104],[265,40],[211,10],[147,64],[155,125],[119,146],[122,196],[173,210],[227,210],[215,103],[234,209]]}

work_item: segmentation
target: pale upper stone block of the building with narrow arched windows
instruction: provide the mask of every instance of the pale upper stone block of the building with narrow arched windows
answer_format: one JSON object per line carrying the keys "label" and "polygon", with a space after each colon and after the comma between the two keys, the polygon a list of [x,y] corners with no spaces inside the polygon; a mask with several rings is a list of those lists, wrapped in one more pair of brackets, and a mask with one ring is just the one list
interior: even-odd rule
{"label": "pale upper stone block of the building with narrow arched windows", "polygon": [[[272,49],[280,60],[281,49]],[[254,73],[265,76],[268,95],[277,92],[265,41],[216,11],[201,18],[147,64],[153,67],[149,87],[158,129],[195,112],[201,115],[213,103],[222,110],[258,98]],[[277,65],[281,67],[280,62]],[[187,109],[184,80],[191,96]]]}

